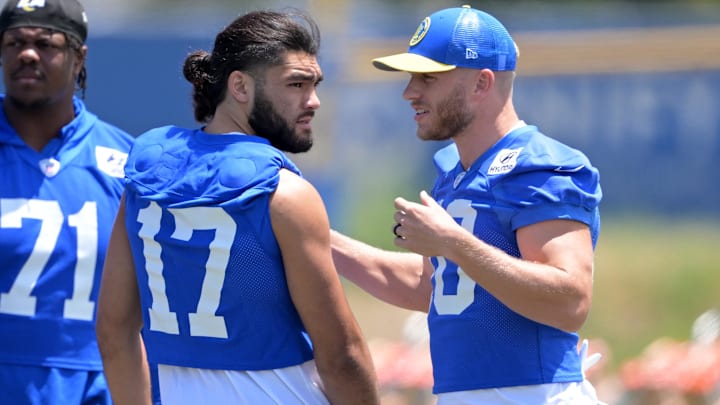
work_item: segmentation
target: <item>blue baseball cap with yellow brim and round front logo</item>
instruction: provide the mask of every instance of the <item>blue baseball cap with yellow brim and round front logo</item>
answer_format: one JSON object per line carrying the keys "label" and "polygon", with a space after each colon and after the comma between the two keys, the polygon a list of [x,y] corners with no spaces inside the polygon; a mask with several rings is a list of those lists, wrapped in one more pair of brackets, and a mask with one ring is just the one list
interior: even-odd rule
{"label": "blue baseball cap with yellow brim and round front logo", "polygon": [[410,73],[455,68],[515,70],[518,49],[510,33],[490,14],[462,6],[431,14],[420,22],[406,53],[373,59],[380,70]]}

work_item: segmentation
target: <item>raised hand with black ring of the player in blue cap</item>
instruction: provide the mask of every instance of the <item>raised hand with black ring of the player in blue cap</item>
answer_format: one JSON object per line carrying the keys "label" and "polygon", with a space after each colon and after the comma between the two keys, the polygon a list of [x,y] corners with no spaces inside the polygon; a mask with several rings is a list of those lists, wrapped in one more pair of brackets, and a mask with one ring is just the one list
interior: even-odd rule
{"label": "raised hand with black ring of the player in blue cap", "polygon": [[425,191],[420,192],[420,203],[396,198],[395,209],[395,245],[423,256],[443,256],[444,246],[462,230]]}

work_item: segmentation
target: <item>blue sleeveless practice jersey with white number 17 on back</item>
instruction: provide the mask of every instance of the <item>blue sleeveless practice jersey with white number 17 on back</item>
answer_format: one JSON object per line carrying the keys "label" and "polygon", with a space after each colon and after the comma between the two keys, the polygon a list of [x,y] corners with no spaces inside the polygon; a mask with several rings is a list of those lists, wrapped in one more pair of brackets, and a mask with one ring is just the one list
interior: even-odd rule
{"label": "blue sleeveless practice jersey with white number 17 on back", "polygon": [[224,370],[301,364],[269,202],[297,167],[264,138],[163,127],[126,166],[126,224],[152,362]]}

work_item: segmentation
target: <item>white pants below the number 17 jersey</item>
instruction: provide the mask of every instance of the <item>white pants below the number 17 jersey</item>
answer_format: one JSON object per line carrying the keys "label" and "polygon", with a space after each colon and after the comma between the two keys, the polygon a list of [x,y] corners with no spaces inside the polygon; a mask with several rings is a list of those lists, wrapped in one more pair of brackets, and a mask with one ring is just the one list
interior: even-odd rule
{"label": "white pants below the number 17 jersey", "polygon": [[262,371],[158,366],[163,405],[329,405],[314,361]]}

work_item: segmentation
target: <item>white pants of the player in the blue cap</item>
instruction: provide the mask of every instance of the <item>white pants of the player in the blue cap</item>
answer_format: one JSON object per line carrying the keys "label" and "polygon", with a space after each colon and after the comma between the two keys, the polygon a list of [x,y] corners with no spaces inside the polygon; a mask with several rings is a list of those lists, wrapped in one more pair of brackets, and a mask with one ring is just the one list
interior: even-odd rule
{"label": "white pants of the player in the blue cap", "polygon": [[437,405],[600,405],[589,381],[523,385],[438,395]]}

